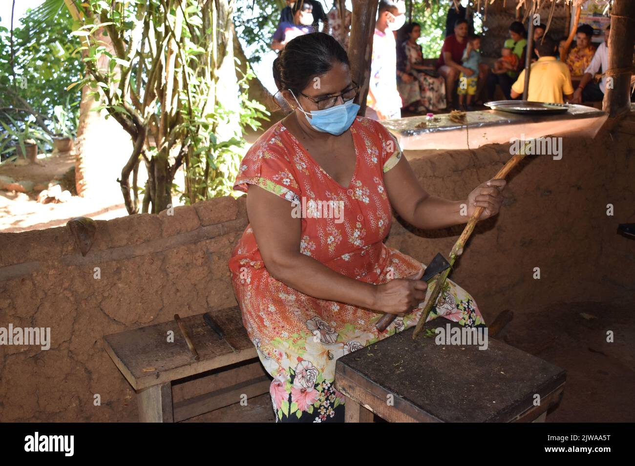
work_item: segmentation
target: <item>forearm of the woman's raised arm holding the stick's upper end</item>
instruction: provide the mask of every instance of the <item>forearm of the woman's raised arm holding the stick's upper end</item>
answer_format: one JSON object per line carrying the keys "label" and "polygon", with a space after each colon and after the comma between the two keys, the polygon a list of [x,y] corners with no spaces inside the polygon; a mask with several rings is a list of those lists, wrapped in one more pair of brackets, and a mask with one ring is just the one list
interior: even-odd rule
{"label": "forearm of the woman's raised arm holding the stick's upper end", "polygon": [[427,196],[415,205],[410,223],[422,230],[435,230],[467,223],[467,220],[467,200],[455,201]]}

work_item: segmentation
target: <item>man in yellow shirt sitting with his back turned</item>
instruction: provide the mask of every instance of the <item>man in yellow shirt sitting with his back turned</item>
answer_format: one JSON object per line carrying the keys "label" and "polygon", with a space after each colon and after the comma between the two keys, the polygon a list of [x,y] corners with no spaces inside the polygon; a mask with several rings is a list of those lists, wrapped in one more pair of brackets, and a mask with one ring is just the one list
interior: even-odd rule
{"label": "man in yellow shirt sitting with his back turned", "polygon": [[[527,100],[546,103],[564,103],[562,95],[567,100],[573,98],[573,86],[569,67],[556,60],[556,42],[551,37],[545,37],[542,43],[538,39],[535,45],[538,61],[531,64],[529,75],[529,92]],[[525,70],[521,72],[518,81],[512,86],[512,99],[518,98],[525,89]]]}

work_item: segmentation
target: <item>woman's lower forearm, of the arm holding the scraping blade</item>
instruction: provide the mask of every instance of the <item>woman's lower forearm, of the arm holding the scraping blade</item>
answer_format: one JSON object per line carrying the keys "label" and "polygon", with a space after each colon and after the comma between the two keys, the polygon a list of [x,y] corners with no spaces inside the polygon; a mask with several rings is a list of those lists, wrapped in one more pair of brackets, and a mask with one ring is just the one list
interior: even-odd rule
{"label": "woman's lower forearm, of the arm holding the scraping blade", "polygon": [[276,280],[305,295],[367,309],[375,306],[377,287],[373,283],[337,273],[305,254],[277,259],[275,265],[267,266],[267,270]]}

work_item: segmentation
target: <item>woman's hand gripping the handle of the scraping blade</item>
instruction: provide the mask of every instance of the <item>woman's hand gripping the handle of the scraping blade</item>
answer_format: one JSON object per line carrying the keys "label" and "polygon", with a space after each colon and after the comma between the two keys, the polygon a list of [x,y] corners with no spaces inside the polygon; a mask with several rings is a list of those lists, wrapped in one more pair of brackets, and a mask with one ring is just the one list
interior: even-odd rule
{"label": "woman's hand gripping the handle of the scraping blade", "polygon": [[373,309],[387,314],[406,314],[425,299],[428,284],[421,281],[424,269],[406,278],[394,278],[375,288]]}

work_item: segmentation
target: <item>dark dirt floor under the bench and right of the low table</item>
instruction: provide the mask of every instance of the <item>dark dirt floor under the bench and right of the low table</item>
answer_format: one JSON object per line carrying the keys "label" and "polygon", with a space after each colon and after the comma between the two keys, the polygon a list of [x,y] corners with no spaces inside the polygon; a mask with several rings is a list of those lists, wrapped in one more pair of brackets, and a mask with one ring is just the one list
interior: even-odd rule
{"label": "dark dirt floor under the bench and right of the low table", "polygon": [[[512,309],[513,310],[513,309]],[[614,342],[606,342],[612,330]],[[500,337],[566,370],[561,404],[547,422],[632,422],[635,418],[635,321],[598,302],[559,303],[514,317]],[[251,398],[185,422],[274,422],[271,397]],[[377,420],[377,419],[376,419]]]}

